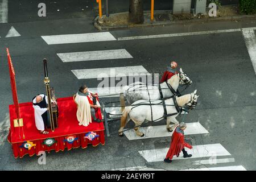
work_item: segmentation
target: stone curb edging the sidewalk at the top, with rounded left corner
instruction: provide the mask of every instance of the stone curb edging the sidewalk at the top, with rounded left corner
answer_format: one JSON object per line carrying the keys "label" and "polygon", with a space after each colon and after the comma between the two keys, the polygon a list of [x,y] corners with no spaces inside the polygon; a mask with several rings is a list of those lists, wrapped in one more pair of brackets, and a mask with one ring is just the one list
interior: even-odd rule
{"label": "stone curb edging the sidewalk at the top, with rounded left corner", "polygon": [[238,19],[254,19],[256,18],[256,14],[254,15],[234,15],[234,16],[225,16],[225,17],[216,17],[216,18],[203,18],[203,19],[190,19],[190,20],[174,20],[168,22],[152,22],[152,23],[143,23],[143,24],[133,24],[132,26],[101,26],[98,23],[98,16],[94,19],[94,27],[96,27],[100,31],[109,31],[116,29],[125,29],[125,28],[135,28],[135,27],[154,27],[154,26],[170,26],[173,24],[179,23],[203,23],[203,22],[217,22],[222,20],[238,20]]}

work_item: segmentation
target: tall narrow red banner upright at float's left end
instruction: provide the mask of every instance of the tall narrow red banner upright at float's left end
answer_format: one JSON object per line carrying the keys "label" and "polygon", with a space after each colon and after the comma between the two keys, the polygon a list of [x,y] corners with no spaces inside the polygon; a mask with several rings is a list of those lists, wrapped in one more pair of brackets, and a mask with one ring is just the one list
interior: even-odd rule
{"label": "tall narrow red banner upright at float's left end", "polygon": [[20,118],[20,109],[19,109],[19,101],[18,101],[17,89],[16,89],[15,72],[14,72],[14,68],[13,68],[13,63],[11,62],[9,48],[6,48],[6,52],[7,52],[7,57],[8,57],[10,80],[11,80],[11,91],[13,93],[13,102],[15,105],[15,113],[16,113],[16,117],[19,119]]}

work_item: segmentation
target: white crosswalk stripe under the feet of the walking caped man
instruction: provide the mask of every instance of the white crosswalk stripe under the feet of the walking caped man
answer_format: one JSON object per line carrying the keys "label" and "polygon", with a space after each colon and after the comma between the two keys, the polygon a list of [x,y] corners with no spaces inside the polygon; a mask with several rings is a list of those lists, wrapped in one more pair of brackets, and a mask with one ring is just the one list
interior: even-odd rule
{"label": "white crosswalk stripe under the feet of the walking caped man", "polygon": [[[139,151],[139,154],[141,154],[143,158],[147,160],[147,162],[160,162],[164,160],[168,150],[169,148],[143,150],[143,151]],[[206,157],[210,158],[212,156],[231,155],[220,143],[193,146],[192,150],[189,148],[186,148],[185,150],[188,151],[188,154],[192,154],[191,158],[206,158]],[[188,159],[188,158],[183,158],[183,154],[181,152],[178,158],[174,156],[173,159],[176,160],[176,159]]]}

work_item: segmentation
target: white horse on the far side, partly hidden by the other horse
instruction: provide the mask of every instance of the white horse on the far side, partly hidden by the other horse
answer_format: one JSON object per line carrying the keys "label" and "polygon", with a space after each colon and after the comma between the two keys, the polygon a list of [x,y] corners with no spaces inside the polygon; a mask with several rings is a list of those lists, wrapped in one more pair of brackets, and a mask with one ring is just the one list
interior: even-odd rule
{"label": "white horse on the far side, partly hidden by the other horse", "polygon": [[[168,79],[167,83],[171,85],[171,87],[176,92],[179,84],[191,85],[192,81],[187,76],[187,74],[184,73],[180,68],[180,73]],[[169,89],[167,83],[163,82],[162,84],[160,84],[164,98],[171,97],[174,95],[174,93],[172,93],[171,90]],[[138,100],[160,100],[161,95],[159,91],[159,86],[148,85],[147,89],[147,85],[143,82],[135,82],[133,84],[126,86],[123,89],[123,92],[120,94],[119,100],[122,108],[125,107],[125,98],[128,104],[130,105],[131,103]]]}

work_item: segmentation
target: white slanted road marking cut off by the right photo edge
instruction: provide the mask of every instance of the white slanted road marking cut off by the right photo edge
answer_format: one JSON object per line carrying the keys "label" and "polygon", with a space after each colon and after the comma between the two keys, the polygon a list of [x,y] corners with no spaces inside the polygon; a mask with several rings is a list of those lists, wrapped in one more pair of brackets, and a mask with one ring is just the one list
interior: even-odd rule
{"label": "white slanted road marking cut off by the right photo edge", "polygon": [[256,74],[256,37],[254,30],[242,29],[243,38],[250,55],[251,63],[253,64],[254,72]]}

